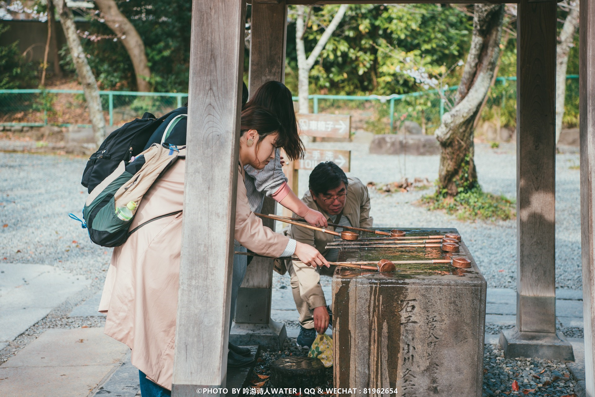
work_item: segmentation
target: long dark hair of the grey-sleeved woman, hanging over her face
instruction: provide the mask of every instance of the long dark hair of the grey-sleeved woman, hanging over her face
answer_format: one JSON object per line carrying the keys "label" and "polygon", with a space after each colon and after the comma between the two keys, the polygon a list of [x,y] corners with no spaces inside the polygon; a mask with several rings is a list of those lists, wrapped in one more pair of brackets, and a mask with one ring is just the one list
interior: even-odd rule
{"label": "long dark hair of the grey-sleeved woman, hanging over her face", "polygon": [[[252,99],[246,103],[245,109],[250,106],[263,106],[277,116],[283,125],[286,141],[277,146],[283,147],[287,157],[291,160],[301,159],[305,149],[302,140],[297,134],[296,115],[293,111],[292,93],[279,81],[267,81],[256,90]],[[258,131],[258,129],[255,128]],[[260,133],[260,131],[258,131]],[[278,141],[278,140],[277,140]]]}

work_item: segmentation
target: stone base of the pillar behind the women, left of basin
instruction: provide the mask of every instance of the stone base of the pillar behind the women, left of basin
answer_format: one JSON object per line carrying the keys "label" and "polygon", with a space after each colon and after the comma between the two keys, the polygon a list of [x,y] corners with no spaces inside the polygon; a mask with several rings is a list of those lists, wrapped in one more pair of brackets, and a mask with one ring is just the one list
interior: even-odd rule
{"label": "stone base of the pillar behind the women, left of basin", "polygon": [[236,346],[261,345],[280,349],[287,338],[285,324],[270,319],[268,324],[233,323],[229,341]]}

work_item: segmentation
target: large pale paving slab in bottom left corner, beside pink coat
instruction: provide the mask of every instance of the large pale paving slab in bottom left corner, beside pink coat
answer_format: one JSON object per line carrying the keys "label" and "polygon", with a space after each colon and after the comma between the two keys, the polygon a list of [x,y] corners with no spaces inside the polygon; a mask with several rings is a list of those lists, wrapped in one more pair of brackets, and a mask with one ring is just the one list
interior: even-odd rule
{"label": "large pale paving slab in bottom left corner, beside pink coat", "polygon": [[129,351],[103,328],[49,329],[0,366],[0,396],[86,397]]}

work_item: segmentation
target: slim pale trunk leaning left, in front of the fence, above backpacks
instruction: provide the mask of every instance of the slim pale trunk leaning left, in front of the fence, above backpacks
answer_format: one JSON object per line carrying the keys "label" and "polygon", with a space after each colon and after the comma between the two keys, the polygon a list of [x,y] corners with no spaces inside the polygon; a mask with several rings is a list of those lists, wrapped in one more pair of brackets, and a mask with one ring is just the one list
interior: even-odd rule
{"label": "slim pale trunk leaning left, in front of the fence, above backpacks", "polygon": [[80,44],[79,36],[76,33],[77,29],[74,24],[72,11],[66,6],[65,0],[56,1],[55,6],[58,15],[60,15],[62,29],[64,30],[68,50],[70,51],[76,73],[79,77],[79,83],[83,86],[84,97],[87,101],[87,108],[89,108],[89,116],[93,127],[93,135],[95,136],[96,143],[99,145],[105,139],[105,118],[101,108],[101,98],[97,89],[97,81],[87,63],[83,46]]}

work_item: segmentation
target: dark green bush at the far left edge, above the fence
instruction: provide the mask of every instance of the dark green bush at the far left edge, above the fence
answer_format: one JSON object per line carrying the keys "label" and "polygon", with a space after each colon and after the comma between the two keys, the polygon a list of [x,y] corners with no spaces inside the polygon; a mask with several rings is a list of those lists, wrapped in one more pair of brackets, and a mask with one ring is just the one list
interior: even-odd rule
{"label": "dark green bush at the far left edge, above the fence", "polygon": [[[9,29],[0,24],[0,36]],[[0,46],[0,89],[12,90],[37,87],[33,62],[26,62],[18,51],[18,42]]]}

